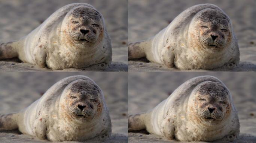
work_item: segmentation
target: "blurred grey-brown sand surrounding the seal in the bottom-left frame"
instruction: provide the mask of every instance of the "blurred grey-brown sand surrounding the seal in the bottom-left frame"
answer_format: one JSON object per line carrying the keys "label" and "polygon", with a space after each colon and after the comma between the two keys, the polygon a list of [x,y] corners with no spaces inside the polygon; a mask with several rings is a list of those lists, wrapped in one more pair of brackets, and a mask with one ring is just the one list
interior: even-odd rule
{"label": "blurred grey-brown sand surrounding the seal in the bottom-left frame", "polygon": [[[1,72],[0,114],[16,112],[28,107],[39,99],[55,82],[72,75],[88,76],[103,90],[112,121],[112,136],[106,143],[127,143],[128,83],[126,72]],[[0,143],[50,142],[21,134],[15,130],[0,132]]]}

